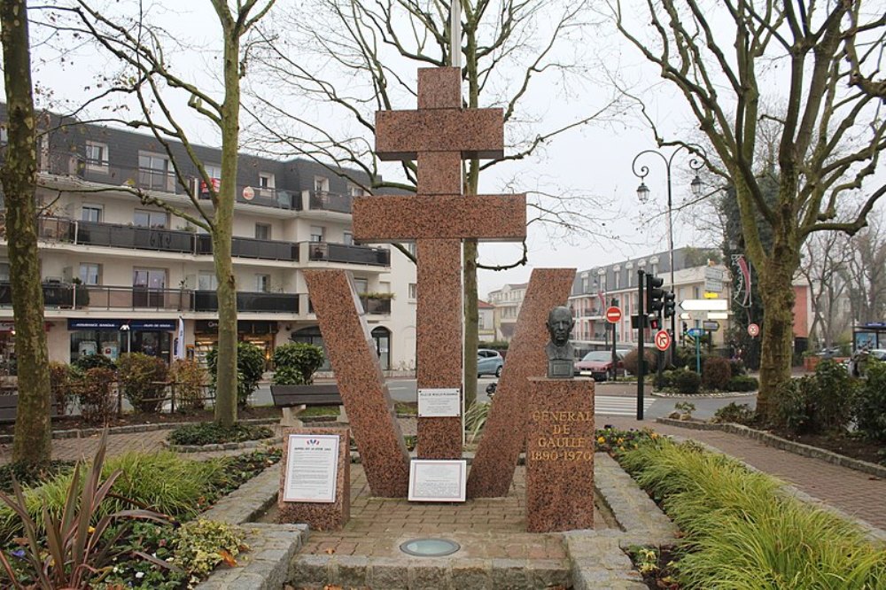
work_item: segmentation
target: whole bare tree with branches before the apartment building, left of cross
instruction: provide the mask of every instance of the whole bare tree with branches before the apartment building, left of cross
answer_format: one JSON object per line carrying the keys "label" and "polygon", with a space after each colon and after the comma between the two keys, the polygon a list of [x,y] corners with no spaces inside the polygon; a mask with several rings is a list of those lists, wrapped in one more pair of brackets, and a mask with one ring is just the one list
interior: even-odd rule
{"label": "whole bare tree with branches before the apartment building, left of cross", "polygon": [[[117,58],[123,70],[110,79],[111,88],[103,97],[122,93],[136,97],[141,117],[120,120],[129,127],[150,130],[169,156],[175,179],[186,191],[196,214],[176,207],[154,193],[132,189],[144,204],[159,206],[200,228],[213,242],[215,276],[218,279],[219,342],[216,369],[215,420],[222,424],[237,421],[237,284],[231,262],[231,236],[237,189],[237,159],[240,133],[240,85],[245,76],[249,44],[245,37],[264,17],[276,0],[240,0],[229,8],[224,0],[210,0],[221,26],[223,54],[221,83],[223,96],[198,88],[176,74],[169,65],[161,32],[149,27],[144,14],[114,18],[93,8],[86,0],[75,0],[69,7],[56,9],[73,16],[72,24],[58,25],[59,31],[89,35],[98,46]],[[175,92],[188,98],[193,113],[209,120],[221,136],[221,182],[213,179],[199,158],[183,126],[176,121],[169,103]],[[182,146],[184,158],[178,145]],[[184,167],[198,169],[209,191],[212,210],[199,202],[188,182]]]}

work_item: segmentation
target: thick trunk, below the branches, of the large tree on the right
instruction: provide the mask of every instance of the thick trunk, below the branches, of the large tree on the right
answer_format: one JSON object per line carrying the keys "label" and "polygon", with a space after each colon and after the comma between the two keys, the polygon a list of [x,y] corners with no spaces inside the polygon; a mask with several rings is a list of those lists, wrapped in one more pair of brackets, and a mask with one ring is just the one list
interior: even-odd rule
{"label": "thick trunk, below the branches, of the large tree on the right", "polygon": [[760,299],[766,309],[763,352],[760,356],[760,391],[757,414],[770,421],[773,400],[790,379],[794,343],[794,287],[791,280],[799,260],[787,247],[775,245],[759,276]]}

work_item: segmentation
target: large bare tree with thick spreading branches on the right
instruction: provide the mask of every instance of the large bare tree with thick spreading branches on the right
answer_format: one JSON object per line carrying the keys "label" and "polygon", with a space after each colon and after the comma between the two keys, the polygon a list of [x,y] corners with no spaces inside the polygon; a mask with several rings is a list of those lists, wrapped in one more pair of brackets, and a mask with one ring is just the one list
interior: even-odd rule
{"label": "large bare tree with thick spreading branches on the right", "polygon": [[[790,378],[791,281],[804,241],[817,231],[859,231],[886,194],[874,176],[886,148],[882,100],[852,85],[879,72],[886,18],[860,0],[726,0],[720,10],[647,0],[639,18],[633,11],[627,18],[623,4],[609,4],[618,31],[679,89],[719,161],[709,160],[709,169],[734,187],[766,307],[758,413],[770,417],[775,392]],[[651,24],[649,36],[637,23]],[[778,129],[767,175],[755,158],[763,120]],[[680,144],[655,131],[660,143]],[[773,202],[764,178],[775,183]],[[861,193],[860,207],[846,206],[853,193]],[[772,232],[769,248],[764,229]]]}

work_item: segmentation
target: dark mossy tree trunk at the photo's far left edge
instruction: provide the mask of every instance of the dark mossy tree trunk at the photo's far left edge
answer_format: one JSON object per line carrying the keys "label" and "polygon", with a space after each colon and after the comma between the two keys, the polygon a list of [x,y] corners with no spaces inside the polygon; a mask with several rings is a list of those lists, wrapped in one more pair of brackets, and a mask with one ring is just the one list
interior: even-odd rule
{"label": "dark mossy tree trunk at the photo's far left edge", "polygon": [[12,461],[42,465],[51,459],[51,393],[37,253],[36,120],[25,0],[0,1],[0,28],[9,126],[9,145],[0,174],[6,198],[6,239],[19,375]]}

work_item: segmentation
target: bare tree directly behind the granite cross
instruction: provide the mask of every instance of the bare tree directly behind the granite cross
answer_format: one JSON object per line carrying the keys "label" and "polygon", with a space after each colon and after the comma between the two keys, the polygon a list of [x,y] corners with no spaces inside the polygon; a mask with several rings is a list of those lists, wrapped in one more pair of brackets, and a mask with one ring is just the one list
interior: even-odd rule
{"label": "bare tree directly behind the granite cross", "polygon": [[[556,86],[568,95],[571,84],[579,82],[583,72],[571,51],[583,47],[581,37],[590,33],[586,1],[462,0],[461,5],[464,105],[503,107],[511,146],[501,159],[465,163],[464,193],[476,194],[482,172],[539,153],[558,136],[602,118],[615,101],[607,99],[556,125],[545,125],[524,105],[539,88]],[[276,149],[299,151],[330,167],[356,167],[372,179],[365,187],[370,191],[416,190],[415,162],[403,163],[402,179],[381,180],[370,143],[372,115],[414,106],[416,66],[454,63],[450,8],[446,0],[313,0],[304,9],[313,17],[309,21],[278,21],[286,36],[294,35],[268,43],[262,78],[269,91],[258,92],[255,113],[261,131],[274,137]],[[266,148],[275,149],[272,144]],[[539,191],[530,194],[529,206],[535,221],[589,234],[605,232],[600,221],[606,208],[587,196],[558,199]],[[525,261],[524,255],[512,266]],[[477,388],[477,270],[505,267],[478,264],[477,241],[467,240],[463,268],[463,366],[470,404]]]}

